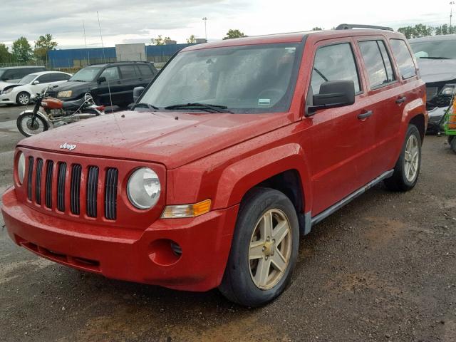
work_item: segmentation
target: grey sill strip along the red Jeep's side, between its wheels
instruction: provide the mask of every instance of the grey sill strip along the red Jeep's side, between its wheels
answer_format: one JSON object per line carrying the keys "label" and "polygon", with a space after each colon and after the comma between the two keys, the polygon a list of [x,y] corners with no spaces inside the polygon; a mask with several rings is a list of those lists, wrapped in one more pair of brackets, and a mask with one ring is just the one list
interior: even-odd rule
{"label": "grey sill strip along the red Jeep's side, between its wheels", "polygon": [[321,222],[323,219],[326,219],[326,217],[333,214],[333,212],[336,212],[338,209],[341,209],[341,207],[350,203],[356,197],[363,195],[364,192],[368,191],[371,189],[371,187],[377,185],[382,180],[391,177],[393,175],[393,172],[394,170],[384,172],[382,175],[375,178],[375,180],[368,182],[368,184],[364,185],[355,192],[352,192],[350,195],[341,199],[341,201],[337,202],[336,204],[333,204],[331,207],[316,215],[315,217],[311,217],[311,212],[299,215],[299,223],[301,227],[304,227],[304,235],[309,234],[311,232],[311,227],[314,227],[315,224]]}

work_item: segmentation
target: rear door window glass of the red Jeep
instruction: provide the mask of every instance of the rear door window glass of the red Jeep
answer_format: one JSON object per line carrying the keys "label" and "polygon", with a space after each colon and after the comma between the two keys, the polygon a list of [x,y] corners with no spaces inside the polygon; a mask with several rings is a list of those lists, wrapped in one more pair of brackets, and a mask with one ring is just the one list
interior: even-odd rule
{"label": "rear door window glass of the red Jeep", "polygon": [[390,57],[383,41],[360,41],[359,47],[369,76],[371,88],[379,88],[395,81]]}

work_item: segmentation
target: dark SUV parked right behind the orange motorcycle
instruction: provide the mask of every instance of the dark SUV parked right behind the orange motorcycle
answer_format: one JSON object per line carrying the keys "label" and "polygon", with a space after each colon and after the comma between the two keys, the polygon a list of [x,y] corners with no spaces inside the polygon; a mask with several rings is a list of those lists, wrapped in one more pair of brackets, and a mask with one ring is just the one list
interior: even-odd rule
{"label": "dark SUV parked right behind the orange motorcycle", "polygon": [[68,82],[53,89],[49,95],[61,100],[78,100],[90,93],[99,105],[125,107],[133,102],[133,88],[147,86],[157,75],[148,62],[93,64],[75,73]]}

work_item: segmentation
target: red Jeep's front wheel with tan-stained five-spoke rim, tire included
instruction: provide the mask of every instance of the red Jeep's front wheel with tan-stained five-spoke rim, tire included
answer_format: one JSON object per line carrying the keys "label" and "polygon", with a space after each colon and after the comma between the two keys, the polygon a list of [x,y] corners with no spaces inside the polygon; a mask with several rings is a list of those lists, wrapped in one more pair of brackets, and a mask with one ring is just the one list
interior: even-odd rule
{"label": "red Jeep's front wheel with tan-stained five-spoke rim, tire included", "polygon": [[[264,216],[271,217],[273,222],[269,239],[266,237],[269,234],[264,234],[267,231]],[[279,232],[287,231],[286,235],[279,234],[276,230],[279,227],[282,227]],[[275,239],[280,239],[280,235],[281,242],[276,243]],[[254,242],[257,244],[252,249]],[[230,301],[243,306],[257,307],[272,301],[289,284],[298,249],[299,224],[290,199],[277,190],[263,187],[252,189],[239,209],[232,247],[219,291]],[[275,264],[280,260],[282,271],[279,271]],[[257,274],[260,264],[265,266],[261,269],[270,270],[266,278],[260,276],[261,272]]]}

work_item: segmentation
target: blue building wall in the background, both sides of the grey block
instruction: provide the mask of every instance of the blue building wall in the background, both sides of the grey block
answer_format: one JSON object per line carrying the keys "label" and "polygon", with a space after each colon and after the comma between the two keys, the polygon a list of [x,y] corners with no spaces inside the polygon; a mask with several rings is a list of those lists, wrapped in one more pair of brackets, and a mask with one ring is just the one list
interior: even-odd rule
{"label": "blue building wall in the background, both sides of the grey block", "polygon": [[[182,48],[195,44],[145,46],[147,61],[165,62]],[[87,64],[115,61],[115,48],[71,48],[48,51],[50,68],[78,68]]]}

